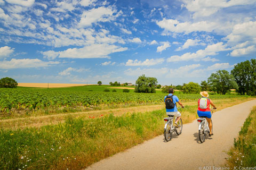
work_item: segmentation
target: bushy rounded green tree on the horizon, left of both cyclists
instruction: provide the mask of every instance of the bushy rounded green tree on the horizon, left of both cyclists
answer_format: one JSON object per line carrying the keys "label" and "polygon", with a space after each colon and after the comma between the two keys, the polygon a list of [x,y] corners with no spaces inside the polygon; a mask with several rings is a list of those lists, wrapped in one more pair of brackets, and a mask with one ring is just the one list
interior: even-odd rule
{"label": "bushy rounded green tree on the horizon, left of both cyclists", "polygon": [[156,84],[156,78],[145,77],[143,74],[136,80],[134,92],[155,93]]}

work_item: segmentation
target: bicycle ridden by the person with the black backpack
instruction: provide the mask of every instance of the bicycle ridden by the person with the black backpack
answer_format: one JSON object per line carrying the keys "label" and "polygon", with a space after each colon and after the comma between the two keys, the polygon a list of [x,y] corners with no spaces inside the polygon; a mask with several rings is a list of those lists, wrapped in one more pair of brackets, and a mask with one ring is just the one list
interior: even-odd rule
{"label": "bicycle ridden by the person with the black backpack", "polygon": [[[180,109],[180,113],[181,113],[181,107],[178,107],[178,109]],[[164,138],[166,140],[166,142],[170,141],[172,138],[172,134],[176,133],[177,135],[181,134],[182,131],[182,120],[180,118],[179,122],[177,123],[179,128],[176,128],[175,126],[173,126],[173,115],[168,115],[169,117],[165,117],[164,121],[166,121],[165,126],[164,126]],[[176,121],[175,117],[175,121]]]}

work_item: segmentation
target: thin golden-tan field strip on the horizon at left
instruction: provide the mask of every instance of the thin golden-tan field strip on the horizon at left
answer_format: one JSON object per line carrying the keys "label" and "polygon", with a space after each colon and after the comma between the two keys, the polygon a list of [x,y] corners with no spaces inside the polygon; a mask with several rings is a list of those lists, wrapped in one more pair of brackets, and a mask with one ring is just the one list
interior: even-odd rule
{"label": "thin golden-tan field strip on the horizon at left", "polygon": [[58,88],[58,87],[74,87],[86,86],[93,84],[65,84],[65,83],[18,83],[20,87],[39,87],[39,88]]}

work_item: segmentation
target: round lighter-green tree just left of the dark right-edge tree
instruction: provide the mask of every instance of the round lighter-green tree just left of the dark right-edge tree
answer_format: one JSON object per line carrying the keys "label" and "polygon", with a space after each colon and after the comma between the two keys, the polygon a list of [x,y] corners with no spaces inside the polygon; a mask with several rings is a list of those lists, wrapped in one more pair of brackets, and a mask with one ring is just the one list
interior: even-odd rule
{"label": "round lighter-green tree just left of the dark right-edge tree", "polygon": [[225,95],[230,89],[238,89],[237,83],[232,74],[227,70],[218,70],[208,78],[211,89],[218,94]]}

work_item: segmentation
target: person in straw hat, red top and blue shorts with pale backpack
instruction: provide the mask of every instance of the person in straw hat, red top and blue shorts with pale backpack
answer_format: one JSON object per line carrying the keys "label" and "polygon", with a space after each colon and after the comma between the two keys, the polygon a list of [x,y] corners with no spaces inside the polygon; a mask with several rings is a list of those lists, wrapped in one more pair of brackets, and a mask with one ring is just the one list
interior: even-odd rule
{"label": "person in straw hat, red top and blue shorts with pale backpack", "polygon": [[[207,91],[201,91],[200,95],[202,96],[202,98],[199,98],[197,101],[197,103],[198,103],[197,115],[199,117],[206,116],[206,120],[209,124],[209,129],[210,129],[209,135],[213,135],[212,122],[211,122],[211,118],[212,118],[211,106],[213,106],[214,109],[217,109],[217,107],[213,104],[211,99],[207,98],[207,97],[209,97],[209,94]],[[205,108],[202,108],[203,102],[200,102],[202,99],[206,101]]]}

